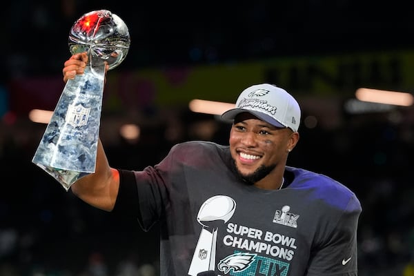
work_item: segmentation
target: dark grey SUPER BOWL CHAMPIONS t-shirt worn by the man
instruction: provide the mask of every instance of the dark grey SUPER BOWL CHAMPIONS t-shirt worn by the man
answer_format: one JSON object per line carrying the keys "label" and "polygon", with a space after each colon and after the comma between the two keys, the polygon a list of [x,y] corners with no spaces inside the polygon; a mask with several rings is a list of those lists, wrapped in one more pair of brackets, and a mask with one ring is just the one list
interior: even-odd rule
{"label": "dark grey SUPER BOWL CHAMPIONS t-shirt worn by the man", "polygon": [[351,190],[289,166],[284,188],[263,190],[232,162],[228,146],[190,141],[156,166],[119,170],[114,212],[146,231],[159,222],[161,275],[357,275]]}

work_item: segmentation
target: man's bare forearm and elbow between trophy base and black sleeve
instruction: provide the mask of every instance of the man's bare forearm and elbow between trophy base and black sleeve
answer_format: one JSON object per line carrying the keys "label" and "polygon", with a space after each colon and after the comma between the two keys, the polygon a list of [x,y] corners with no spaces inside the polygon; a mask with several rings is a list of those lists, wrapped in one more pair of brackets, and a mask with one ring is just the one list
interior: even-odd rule
{"label": "man's bare forearm and elbow between trophy base and black sleeve", "polygon": [[92,206],[110,211],[115,206],[118,189],[119,172],[110,168],[99,139],[95,172],[72,184],[72,193]]}

